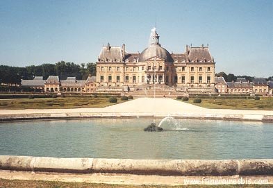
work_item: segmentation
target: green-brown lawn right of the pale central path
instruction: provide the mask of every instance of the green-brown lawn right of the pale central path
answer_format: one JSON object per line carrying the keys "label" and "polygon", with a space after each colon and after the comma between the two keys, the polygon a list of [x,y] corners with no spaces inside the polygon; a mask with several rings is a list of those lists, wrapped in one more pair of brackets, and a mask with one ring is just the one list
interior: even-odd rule
{"label": "green-brown lawn right of the pale central path", "polygon": [[185,101],[193,105],[198,105],[204,108],[224,108],[224,109],[239,109],[239,110],[273,110],[273,98],[254,99],[201,99],[201,103],[193,103],[193,99]]}

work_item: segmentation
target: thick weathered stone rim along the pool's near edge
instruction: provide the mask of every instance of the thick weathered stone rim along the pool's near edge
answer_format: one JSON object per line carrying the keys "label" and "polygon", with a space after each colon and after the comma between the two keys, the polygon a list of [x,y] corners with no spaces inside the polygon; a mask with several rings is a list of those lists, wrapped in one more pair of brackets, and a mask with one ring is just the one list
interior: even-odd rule
{"label": "thick weathered stone rim along the pool's near edge", "polygon": [[160,176],[273,176],[273,159],[131,160],[0,155],[0,170]]}

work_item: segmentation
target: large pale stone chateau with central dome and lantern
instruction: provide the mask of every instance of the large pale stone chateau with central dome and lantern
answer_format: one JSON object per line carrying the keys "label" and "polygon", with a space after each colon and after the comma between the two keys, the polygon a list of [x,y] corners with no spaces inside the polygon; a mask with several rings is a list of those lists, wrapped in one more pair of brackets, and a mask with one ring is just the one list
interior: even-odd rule
{"label": "large pale stone chateau with central dome and lantern", "polygon": [[104,46],[97,61],[97,91],[131,91],[149,85],[175,87],[184,92],[215,91],[215,61],[208,46],[185,46],[184,53],[169,53],[151,29],[149,46],[141,53]]}

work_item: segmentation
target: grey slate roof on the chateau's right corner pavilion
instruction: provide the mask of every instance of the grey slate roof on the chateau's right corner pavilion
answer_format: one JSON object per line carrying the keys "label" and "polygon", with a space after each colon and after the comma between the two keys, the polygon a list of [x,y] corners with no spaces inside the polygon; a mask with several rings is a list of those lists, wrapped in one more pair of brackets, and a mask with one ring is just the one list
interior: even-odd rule
{"label": "grey slate roof on the chateau's right corner pavilion", "polygon": [[208,46],[201,46],[201,47],[190,47],[188,53],[189,60],[199,60],[199,61],[211,61],[212,57],[210,52],[208,51]]}

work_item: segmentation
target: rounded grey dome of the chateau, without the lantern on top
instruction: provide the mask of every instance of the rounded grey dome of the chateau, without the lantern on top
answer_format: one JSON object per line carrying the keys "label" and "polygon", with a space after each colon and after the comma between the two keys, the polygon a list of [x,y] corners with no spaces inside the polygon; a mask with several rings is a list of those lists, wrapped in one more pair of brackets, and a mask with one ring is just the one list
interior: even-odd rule
{"label": "rounded grey dome of the chateau, without the lantern on top", "polygon": [[173,62],[172,55],[169,54],[169,51],[161,47],[157,44],[152,44],[148,48],[144,49],[142,53],[140,53],[140,58],[138,61],[143,62],[149,58],[162,58],[163,60],[167,62]]}

